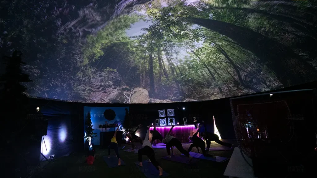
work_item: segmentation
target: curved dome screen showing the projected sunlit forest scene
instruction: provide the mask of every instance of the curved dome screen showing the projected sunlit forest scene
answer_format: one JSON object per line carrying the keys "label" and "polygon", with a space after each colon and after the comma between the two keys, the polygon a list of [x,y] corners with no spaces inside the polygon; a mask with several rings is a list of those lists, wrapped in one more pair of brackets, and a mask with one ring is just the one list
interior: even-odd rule
{"label": "curved dome screen showing the projected sunlit forest scene", "polygon": [[313,0],[2,1],[0,48],[23,53],[29,97],[218,99],[315,81],[316,7]]}

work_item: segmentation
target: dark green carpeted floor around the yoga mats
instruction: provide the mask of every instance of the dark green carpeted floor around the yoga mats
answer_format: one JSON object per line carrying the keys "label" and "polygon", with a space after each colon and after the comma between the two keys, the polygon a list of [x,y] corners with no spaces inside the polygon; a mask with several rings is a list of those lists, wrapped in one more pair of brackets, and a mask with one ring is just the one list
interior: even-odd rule
{"label": "dark green carpeted floor around the yoga mats", "polygon": [[[141,147],[141,145],[137,145]],[[184,145],[184,149],[188,149],[190,144]],[[212,143],[211,147],[220,146]],[[124,149],[131,148],[130,145]],[[167,155],[166,149],[154,149],[158,162],[161,167],[169,174],[169,177],[225,177],[223,172],[229,161],[223,163],[212,162],[207,160],[199,160],[194,165],[187,165],[178,162],[171,162],[161,159]],[[180,155],[177,149],[174,149],[175,153]],[[192,151],[196,152],[197,149],[193,148]],[[216,156],[230,158],[233,150],[229,151],[212,151],[209,154],[215,154]],[[111,154],[114,156],[114,151]],[[43,168],[37,170],[32,177],[33,178],[113,178],[113,177],[125,177],[125,178],[141,178],[145,175],[139,171],[134,165],[134,162],[138,161],[138,154],[129,153],[123,150],[119,150],[121,159],[126,163],[125,166],[108,168],[106,162],[102,159],[102,156],[108,155],[107,149],[96,148],[96,160],[93,165],[87,165],[85,163],[85,156],[81,153],[65,156],[44,165]],[[147,160],[146,156],[143,156],[144,160]],[[194,158],[195,159],[195,158]]]}

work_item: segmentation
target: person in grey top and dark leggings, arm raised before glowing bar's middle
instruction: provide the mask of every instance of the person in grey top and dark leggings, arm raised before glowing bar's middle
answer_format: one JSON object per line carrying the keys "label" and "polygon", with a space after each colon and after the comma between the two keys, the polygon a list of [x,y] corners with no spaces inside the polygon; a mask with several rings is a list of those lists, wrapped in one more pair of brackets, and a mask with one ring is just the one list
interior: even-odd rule
{"label": "person in grey top and dark leggings, arm raised before glowing bar's middle", "polygon": [[167,135],[165,136],[165,138],[162,140],[163,143],[166,144],[166,151],[167,151],[167,155],[168,157],[171,157],[170,155],[170,149],[172,154],[173,153],[173,146],[175,146],[182,154],[184,154],[185,156],[189,157],[191,161],[191,159],[193,157],[191,157],[189,155],[189,153],[183,148],[182,143],[175,137],[171,136],[171,131],[173,130],[173,128],[175,127],[175,125],[172,126],[172,128],[170,129],[170,131],[167,133]]}

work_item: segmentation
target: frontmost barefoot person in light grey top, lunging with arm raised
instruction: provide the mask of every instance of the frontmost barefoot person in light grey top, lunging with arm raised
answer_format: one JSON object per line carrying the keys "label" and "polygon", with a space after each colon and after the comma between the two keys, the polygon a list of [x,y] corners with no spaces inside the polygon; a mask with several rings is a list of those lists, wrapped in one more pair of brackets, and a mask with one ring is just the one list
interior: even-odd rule
{"label": "frontmost barefoot person in light grey top, lunging with arm raised", "polygon": [[149,131],[150,131],[150,125],[147,128],[147,132],[146,132],[146,136],[145,139],[143,141],[142,144],[142,149],[139,149],[138,151],[138,158],[139,158],[139,166],[143,166],[142,165],[142,156],[145,155],[147,156],[150,161],[152,162],[152,164],[154,165],[154,167],[159,170],[159,175],[163,175],[163,169],[161,168],[161,166],[159,165],[159,162],[156,161],[155,159],[155,152],[154,149],[152,148],[152,143],[149,141]]}

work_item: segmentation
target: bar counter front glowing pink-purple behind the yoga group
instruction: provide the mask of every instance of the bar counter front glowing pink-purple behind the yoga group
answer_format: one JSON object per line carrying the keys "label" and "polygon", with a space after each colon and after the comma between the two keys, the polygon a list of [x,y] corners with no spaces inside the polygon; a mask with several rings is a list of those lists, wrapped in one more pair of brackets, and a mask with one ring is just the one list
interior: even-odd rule
{"label": "bar counter front glowing pink-purple behind the yoga group", "polygon": [[[159,131],[162,136],[165,138],[166,134],[170,131],[172,126],[157,126],[156,130]],[[150,127],[150,130],[153,130],[154,127]],[[188,137],[193,136],[196,133],[197,129],[195,125],[176,125],[172,132],[171,136],[178,138],[181,143],[189,142]],[[197,135],[199,137],[199,133]],[[150,141],[152,140],[152,134],[149,135]],[[156,140],[156,143],[161,143],[159,140]]]}

